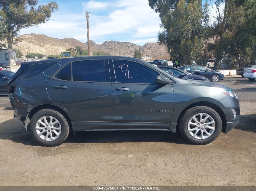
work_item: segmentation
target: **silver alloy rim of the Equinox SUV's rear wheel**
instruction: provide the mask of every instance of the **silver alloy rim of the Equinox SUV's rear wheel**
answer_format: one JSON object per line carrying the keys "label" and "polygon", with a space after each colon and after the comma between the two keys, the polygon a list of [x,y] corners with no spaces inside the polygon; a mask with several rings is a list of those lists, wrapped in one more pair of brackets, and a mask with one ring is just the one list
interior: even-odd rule
{"label": "silver alloy rim of the Equinox SUV's rear wheel", "polygon": [[43,116],[36,122],[35,130],[41,139],[53,141],[61,134],[61,124],[53,116]]}

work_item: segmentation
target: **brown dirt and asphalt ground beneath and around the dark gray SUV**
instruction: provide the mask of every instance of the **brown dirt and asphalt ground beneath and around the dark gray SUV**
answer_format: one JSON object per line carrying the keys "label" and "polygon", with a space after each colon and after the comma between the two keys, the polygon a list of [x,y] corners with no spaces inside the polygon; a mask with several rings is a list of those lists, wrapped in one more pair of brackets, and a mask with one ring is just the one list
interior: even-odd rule
{"label": "brown dirt and asphalt ground beneath and around the dark gray SUV", "polygon": [[239,125],[209,145],[169,132],[78,132],[41,147],[0,97],[0,185],[256,185],[256,82],[228,77]]}

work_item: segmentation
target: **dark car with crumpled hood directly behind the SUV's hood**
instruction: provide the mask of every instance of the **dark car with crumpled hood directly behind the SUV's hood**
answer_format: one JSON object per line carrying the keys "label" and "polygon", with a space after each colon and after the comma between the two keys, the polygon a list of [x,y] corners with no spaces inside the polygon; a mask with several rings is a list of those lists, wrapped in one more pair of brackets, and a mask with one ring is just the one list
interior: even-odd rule
{"label": "dark car with crumpled hood directly behind the SUV's hood", "polygon": [[178,68],[173,68],[170,66],[158,66],[158,68],[161,68],[162,70],[164,70],[168,74],[173,75],[176,78],[209,81],[207,78],[200,75],[198,72],[194,72],[193,74],[190,74],[188,72],[185,72],[183,70],[180,70]]}

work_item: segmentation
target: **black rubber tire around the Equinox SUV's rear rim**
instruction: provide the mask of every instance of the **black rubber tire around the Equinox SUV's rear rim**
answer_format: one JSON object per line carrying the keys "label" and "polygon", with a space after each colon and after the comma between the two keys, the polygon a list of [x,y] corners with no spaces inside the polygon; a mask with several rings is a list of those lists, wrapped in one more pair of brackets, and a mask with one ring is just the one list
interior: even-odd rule
{"label": "black rubber tire around the Equinox SUV's rear rim", "polygon": [[[38,119],[40,119],[43,116],[52,116],[52,117],[55,117],[59,121],[59,123],[61,125],[61,133],[60,133],[59,137],[56,138],[56,140],[45,141],[37,135],[35,126],[36,126]],[[30,133],[31,133],[32,137],[35,139],[35,141],[38,142],[40,145],[58,146],[58,145],[62,144],[62,142],[65,141],[66,138],[68,137],[68,134],[69,134],[68,121],[61,113],[59,113],[56,110],[43,109],[43,110],[40,110],[37,113],[35,113],[35,115],[32,117],[31,122],[30,122]]]}

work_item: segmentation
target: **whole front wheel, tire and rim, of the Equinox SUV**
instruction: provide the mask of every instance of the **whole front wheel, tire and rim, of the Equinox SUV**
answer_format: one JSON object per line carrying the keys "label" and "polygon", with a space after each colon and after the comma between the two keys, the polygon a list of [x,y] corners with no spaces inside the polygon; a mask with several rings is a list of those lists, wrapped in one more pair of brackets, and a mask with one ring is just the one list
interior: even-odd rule
{"label": "whole front wheel, tire and rim, of the Equinox SUV", "polygon": [[182,136],[196,145],[213,142],[221,132],[222,121],[212,108],[197,106],[188,109],[179,121]]}

